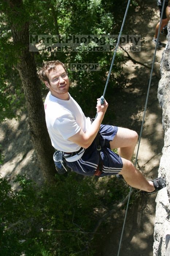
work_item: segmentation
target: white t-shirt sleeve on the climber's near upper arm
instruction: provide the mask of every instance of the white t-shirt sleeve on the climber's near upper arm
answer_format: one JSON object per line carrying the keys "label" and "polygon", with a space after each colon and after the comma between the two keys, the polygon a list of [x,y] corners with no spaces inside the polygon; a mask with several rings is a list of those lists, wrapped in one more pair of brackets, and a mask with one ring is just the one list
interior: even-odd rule
{"label": "white t-shirt sleeve on the climber's near upper arm", "polygon": [[57,130],[65,140],[75,135],[81,129],[71,113],[56,118],[53,128]]}

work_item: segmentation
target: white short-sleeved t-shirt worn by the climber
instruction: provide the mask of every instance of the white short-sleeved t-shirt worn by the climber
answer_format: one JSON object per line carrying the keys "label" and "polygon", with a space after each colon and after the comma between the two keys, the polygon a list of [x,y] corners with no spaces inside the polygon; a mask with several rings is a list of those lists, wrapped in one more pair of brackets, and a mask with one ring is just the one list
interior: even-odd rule
{"label": "white short-sleeved t-shirt worn by the climber", "polygon": [[63,152],[78,151],[81,147],[70,140],[82,129],[84,132],[91,124],[78,103],[70,96],[69,100],[58,99],[50,91],[45,99],[45,115],[51,143],[55,149]]}

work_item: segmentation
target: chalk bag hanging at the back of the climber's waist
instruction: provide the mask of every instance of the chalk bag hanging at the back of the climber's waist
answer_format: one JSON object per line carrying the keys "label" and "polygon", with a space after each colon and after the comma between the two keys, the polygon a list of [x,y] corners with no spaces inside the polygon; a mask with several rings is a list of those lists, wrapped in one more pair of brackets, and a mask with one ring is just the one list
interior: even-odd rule
{"label": "chalk bag hanging at the back of the climber's waist", "polygon": [[64,174],[67,172],[65,162],[63,161],[62,151],[59,151],[59,150],[55,151],[53,155],[53,160],[55,163],[55,169],[59,174]]}

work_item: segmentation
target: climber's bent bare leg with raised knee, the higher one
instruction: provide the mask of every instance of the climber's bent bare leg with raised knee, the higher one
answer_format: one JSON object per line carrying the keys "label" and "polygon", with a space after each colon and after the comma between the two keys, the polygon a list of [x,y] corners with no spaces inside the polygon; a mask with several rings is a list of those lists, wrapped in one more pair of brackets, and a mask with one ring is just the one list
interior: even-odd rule
{"label": "climber's bent bare leg with raised knee, the higher one", "polygon": [[115,138],[110,142],[111,149],[118,148],[120,157],[131,160],[134,153],[138,134],[127,128],[118,127]]}

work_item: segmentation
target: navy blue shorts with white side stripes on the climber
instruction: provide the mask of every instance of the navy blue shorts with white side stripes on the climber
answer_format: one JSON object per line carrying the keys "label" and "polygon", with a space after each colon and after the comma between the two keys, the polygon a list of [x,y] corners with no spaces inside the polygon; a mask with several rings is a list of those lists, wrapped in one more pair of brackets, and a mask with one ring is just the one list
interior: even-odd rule
{"label": "navy blue shorts with white side stripes on the climber", "polygon": [[99,130],[101,150],[97,150],[97,143],[96,140],[94,140],[93,143],[86,148],[80,159],[74,162],[66,162],[67,166],[76,173],[93,176],[99,163],[100,154],[103,161],[103,169],[100,177],[119,173],[123,167],[121,157],[111,150],[109,144],[109,142],[114,139],[117,130],[118,127],[116,126],[101,124]]}

